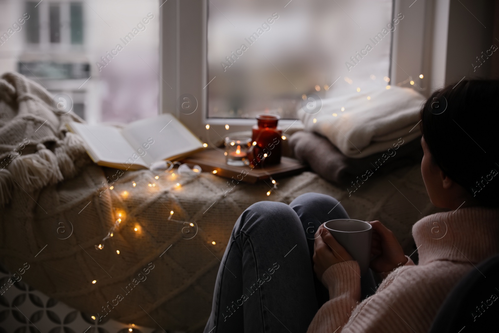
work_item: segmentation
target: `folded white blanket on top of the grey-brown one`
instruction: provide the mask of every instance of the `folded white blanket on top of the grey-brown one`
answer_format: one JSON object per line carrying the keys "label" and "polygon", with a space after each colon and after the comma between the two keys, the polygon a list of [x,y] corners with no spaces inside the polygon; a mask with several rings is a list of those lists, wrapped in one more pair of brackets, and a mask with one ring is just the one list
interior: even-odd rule
{"label": "folded white blanket on top of the grey-brown one", "polygon": [[420,136],[414,126],[424,100],[410,88],[368,88],[336,93],[322,99],[319,112],[300,108],[298,117],[306,131],[325,136],[348,157],[361,158],[393,147],[399,138],[407,142]]}

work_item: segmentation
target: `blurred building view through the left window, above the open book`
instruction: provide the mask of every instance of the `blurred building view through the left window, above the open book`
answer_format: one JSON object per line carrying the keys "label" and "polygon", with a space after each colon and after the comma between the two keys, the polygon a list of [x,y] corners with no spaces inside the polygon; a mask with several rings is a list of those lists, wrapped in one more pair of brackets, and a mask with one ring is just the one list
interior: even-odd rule
{"label": "blurred building view through the left window, above the open book", "polygon": [[0,0],[0,73],[69,95],[89,123],[153,116],[159,26],[158,0]]}

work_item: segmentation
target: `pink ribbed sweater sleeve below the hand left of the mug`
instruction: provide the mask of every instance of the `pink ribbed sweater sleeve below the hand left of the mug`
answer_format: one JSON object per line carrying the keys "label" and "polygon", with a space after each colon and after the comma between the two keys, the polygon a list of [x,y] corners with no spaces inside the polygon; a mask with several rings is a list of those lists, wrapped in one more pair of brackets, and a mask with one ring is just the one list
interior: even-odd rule
{"label": "pink ribbed sweater sleeve below the hand left of the mug", "polygon": [[329,267],[322,275],[329,290],[327,301],[317,312],[307,333],[333,333],[348,322],[360,301],[360,268],[356,261],[346,261]]}

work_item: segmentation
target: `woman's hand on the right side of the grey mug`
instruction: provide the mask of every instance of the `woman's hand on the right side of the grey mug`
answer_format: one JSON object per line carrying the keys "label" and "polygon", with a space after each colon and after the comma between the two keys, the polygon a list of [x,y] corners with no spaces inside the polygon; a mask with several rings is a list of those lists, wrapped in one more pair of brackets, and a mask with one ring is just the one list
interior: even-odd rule
{"label": "woman's hand on the right side of the grey mug", "polygon": [[407,263],[404,250],[395,235],[379,221],[369,223],[373,227],[371,258],[378,256],[371,261],[369,267],[377,273],[383,273]]}

